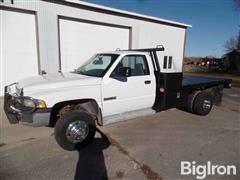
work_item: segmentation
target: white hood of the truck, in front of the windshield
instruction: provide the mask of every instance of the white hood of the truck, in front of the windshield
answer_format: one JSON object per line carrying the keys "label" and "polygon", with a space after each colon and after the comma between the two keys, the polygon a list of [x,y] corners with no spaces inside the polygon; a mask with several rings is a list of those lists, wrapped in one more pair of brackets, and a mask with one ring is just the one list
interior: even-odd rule
{"label": "white hood of the truck, in front of the windshield", "polygon": [[34,76],[18,82],[18,87],[25,92],[35,92],[58,88],[99,85],[102,78],[75,73],[54,73]]}

